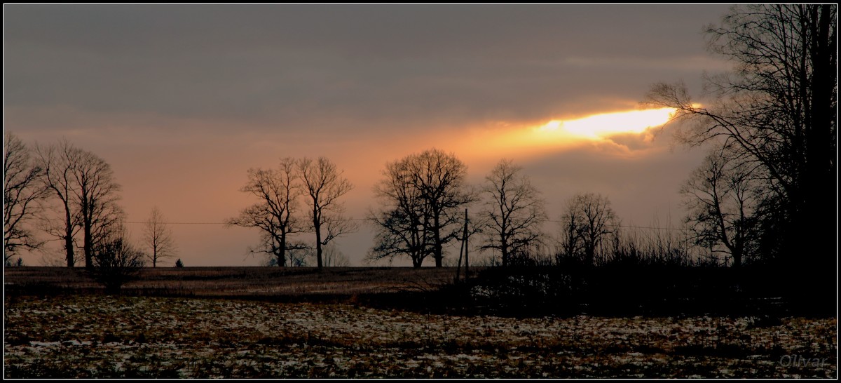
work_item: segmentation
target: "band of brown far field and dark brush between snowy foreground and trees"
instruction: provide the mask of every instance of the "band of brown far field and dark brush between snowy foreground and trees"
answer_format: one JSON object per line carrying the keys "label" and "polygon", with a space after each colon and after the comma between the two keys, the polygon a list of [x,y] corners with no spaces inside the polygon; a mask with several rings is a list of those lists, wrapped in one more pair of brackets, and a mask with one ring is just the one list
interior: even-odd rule
{"label": "band of brown far field and dark brush between snowy foreground and trees", "polygon": [[[833,290],[803,292],[783,270],[669,265],[456,268],[145,268],[121,295],[360,303],[419,312],[508,317],[819,316]],[[83,269],[4,270],[5,295],[104,294]]]}

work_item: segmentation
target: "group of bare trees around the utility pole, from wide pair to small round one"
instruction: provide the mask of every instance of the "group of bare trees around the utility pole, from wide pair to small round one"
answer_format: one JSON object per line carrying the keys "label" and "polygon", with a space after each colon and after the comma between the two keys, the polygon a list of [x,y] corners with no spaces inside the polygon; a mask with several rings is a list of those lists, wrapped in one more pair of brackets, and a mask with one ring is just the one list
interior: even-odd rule
{"label": "group of bare trees around the utility pole, from wide pair to small round one", "polygon": [[[473,203],[481,208],[467,234],[481,234],[480,248],[499,253],[503,266],[520,263],[534,247],[545,245],[545,201],[520,166],[501,160],[479,188],[466,184],[466,177],[463,162],[437,149],[387,163],[374,188],[380,207],[368,215],[376,229],[368,259],[405,256],[421,267],[431,257],[441,267],[442,249],[463,239],[461,211]],[[592,193],[570,199],[561,222],[561,252],[590,264],[618,225],[610,201]]]}

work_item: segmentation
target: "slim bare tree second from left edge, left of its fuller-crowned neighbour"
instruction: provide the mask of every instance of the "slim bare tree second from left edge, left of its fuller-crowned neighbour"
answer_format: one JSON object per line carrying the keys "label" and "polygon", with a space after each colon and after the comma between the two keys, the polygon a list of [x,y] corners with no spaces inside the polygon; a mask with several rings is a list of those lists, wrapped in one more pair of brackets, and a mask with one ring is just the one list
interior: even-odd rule
{"label": "slim bare tree second from left edge, left of its fuller-crowned neighbour", "polygon": [[[79,228],[78,205],[74,203],[73,167],[79,149],[62,139],[57,145],[35,146],[37,166],[44,171],[41,181],[45,189],[57,200],[58,221],[45,219],[44,229],[64,242],[67,267],[76,265],[75,237]],[[61,222],[61,223],[59,223]]]}

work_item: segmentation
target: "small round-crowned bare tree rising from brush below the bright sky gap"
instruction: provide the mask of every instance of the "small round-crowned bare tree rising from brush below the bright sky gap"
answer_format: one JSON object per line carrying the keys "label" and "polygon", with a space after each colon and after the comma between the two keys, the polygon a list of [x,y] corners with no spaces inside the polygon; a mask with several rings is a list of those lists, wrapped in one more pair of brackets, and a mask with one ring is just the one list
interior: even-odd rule
{"label": "small round-crowned bare tree rising from brush below the bright sky gap", "polygon": [[563,248],[580,250],[584,264],[593,265],[596,251],[618,226],[618,218],[607,197],[594,193],[575,194],[561,216]]}

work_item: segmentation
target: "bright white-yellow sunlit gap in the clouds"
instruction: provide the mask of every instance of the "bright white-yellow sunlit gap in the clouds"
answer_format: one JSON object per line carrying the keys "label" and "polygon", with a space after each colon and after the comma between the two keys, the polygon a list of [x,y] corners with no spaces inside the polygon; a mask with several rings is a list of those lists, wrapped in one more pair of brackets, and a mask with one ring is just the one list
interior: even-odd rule
{"label": "bright white-yellow sunlit gap in the clouds", "polygon": [[599,139],[621,133],[642,133],[648,128],[665,124],[672,114],[672,108],[594,114],[577,120],[551,120],[537,130],[563,131],[572,136]]}

